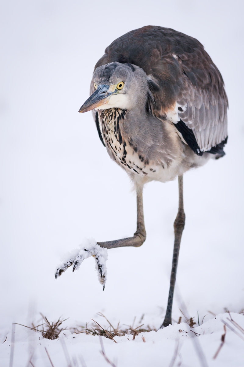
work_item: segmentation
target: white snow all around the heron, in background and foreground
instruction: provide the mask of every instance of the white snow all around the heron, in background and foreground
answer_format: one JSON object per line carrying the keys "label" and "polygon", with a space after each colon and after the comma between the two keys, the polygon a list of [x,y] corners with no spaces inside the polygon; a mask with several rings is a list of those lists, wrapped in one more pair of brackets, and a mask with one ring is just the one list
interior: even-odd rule
{"label": "white snow all around the heron, in background and foreground", "polygon": [[[224,308],[238,313],[244,307],[243,10],[243,2],[237,0],[1,3],[1,343],[6,336],[11,339],[12,322],[30,323],[30,304],[34,304],[35,319],[39,311],[52,321],[63,315],[70,317],[65,321],[68,327],[85,324],[97,312],[112,323],[131,324],[134,316],[139,320],[143,313],[146,324],[159,327],[163,321],[177,213],[176,181],[145,187],[147,240],[140,248],[108,251],[104,292],[93,258],[83,261],[74,273],[68,269],[59,279],[54,277],[60,258],[84,237],[104,241],[135,231],[131,183],[102,146],[91,113],[79,114],[78,109],[89,95],[93,67],[105,47],[121,34],[148,24],[174,28],[202,42],[222,73],[230,105],[226,156],[184,177],[186,225],[177,294],[194,320],[197,312],[200,320],[208,314],[204,327],[214,322],[209,321],[214,320],[209,310],[217,315]],[[179,305],[175,297],[174,320],[181,316]],[[235,317],[241,324],[243,316]],[[230,330],[219,356],[211,359],[223,333],[221,321],[217,323],[213,334],[198,337],[209,366],[239,366],[240,360],[244,364],[244,341]],[[168,341],[172,344],[167,347],[165,333],[157,334],[162,335],[161,344],[156,337],[155,344],[149,342],[155,333],[145,335],[146,343],[136,337],[135,347],[126,338],[118,345],[106,339],[105,351],[110,358],[118,358],[118,367],[129,366],[124,361],[130,353],[126,348],[132,348],[135,366],[157,366],[151,363],[150,353],[158,356],[158,365],[168,366],[175,341]],[[16,326],[15,337],[13,367],[23,366],[31,336]],[[99,340],[88,339],[94,344],[77,344],[87,367],[107,365],[99,353]],[[76,346],[66,342],[70,355],[78,356],[72,351]],[[6,343],[4,348],[11,344]],[[22,343],[28,348],[22,348]],[[55,349],[59,342],[41,341],[40,353],[45,354],[42,343],[47,343],[55,367],[65,366],[62,349]],[[0,355],[4,367],[9,365],[5,353],[9,351],[3,349]],[[33,357],[37,366],[38,353]],[[197,366],[194,353],[192,341],[186,340],[181,348],[183,364]]]}

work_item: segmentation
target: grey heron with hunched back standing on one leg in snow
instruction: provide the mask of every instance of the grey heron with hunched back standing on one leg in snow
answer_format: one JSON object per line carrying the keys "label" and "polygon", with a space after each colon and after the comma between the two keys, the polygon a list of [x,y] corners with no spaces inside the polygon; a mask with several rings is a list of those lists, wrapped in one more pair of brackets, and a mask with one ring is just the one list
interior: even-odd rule
{"label": "grey heron with hunched back standing on one leg in snow", "polygon": [[[124,34],[106,48],[95,65],[90,97],[79,109],[93,110],[101,142],[136,188],[134,236],[98,242],[100,247],[141,246],[146,240],[143,185],[178,176],[179,210],[174,221],[168,305],[161,327],[172,323],[185,225],[183,174],[210,158],[225,155],[227,108],[222,76],[200,42],[173,29],[145,26]],[[56,277],[71,265],[74,271],[79,259],[72,258],[57,269]]]}

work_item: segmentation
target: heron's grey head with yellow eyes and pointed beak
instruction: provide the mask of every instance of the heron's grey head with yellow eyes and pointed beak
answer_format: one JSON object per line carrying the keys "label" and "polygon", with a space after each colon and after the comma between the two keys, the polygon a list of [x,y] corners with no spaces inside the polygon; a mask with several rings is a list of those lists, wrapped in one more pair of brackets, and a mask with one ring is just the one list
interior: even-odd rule
{"label": "heron's grey head with yellow eyes and pointed beak", "polygon": [[[93,74],[95,91],[80,107],[79,112],[132,108],[138,101],[138,96],[147,92],[142,88],[143,79],[146,81],[146,73],[132,64],[110,62],[100,66]],[[143,90],[143,93],[138,93],[138,90]]]}

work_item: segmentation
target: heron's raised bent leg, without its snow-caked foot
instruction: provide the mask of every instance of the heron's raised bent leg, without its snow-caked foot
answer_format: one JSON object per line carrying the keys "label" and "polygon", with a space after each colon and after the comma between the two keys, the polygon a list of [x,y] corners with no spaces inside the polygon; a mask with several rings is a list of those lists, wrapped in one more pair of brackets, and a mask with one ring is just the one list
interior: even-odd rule
{"label": "heron's raised bent leg, without its snow-caked foot", "polygon": [[143,242],[146,240],[146,230],[144,225],[144,215],[143,215],[143,200],[142,200],[142,186],[136,187],[136,204],[137,204],[137,225],[136,232],[133,237],[122,238],[120,240],[97,242],[101,247],[106,248],[116,248],[116,247],[128,247],[142,246]]}

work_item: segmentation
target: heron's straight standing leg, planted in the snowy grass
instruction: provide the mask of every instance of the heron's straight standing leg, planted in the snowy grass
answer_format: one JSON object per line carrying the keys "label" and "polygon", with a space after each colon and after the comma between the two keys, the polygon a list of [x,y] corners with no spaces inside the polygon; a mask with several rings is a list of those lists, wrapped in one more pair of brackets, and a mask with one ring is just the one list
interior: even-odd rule
{"label": "heron's straight standing leg, planted in the snowy grass", "polygon": [[171,276],[170,276],[169,298],[168,298],[168,305],[167,305],[165,319],[160,328],[164,328],[168,326],[169,324],[172,324],[171,314],[172,314],[177,264],[178,264],[179,251],[180,251],[180,240],[181,240],[182,232],[185,226],[185,213],[184,213],[184,207],[183,207],[183,176],[178,177],[178,182],[179,182],[179,209],[178,209],[176,219],[174,221],[174,251],[173,251],[172,269],[171,269]]}

